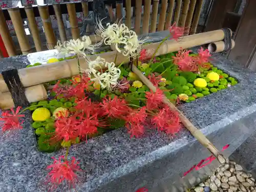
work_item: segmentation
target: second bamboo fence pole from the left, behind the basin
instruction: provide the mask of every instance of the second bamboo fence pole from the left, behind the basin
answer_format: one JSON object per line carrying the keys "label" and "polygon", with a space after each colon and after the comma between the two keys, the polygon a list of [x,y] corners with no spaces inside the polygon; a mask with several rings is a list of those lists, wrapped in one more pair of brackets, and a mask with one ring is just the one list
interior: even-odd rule
{"label": "second bamboo fence pole from the left, behind the basin", "polygon": [[12,20],[12,24],[15,30],[15,33],[18,38],[18,43],[20,46],[20,49],[22,50],[23,54],[28,54],[31,53],[31,47],[29,45],[29,39],[28,36],[26,35],[24,26],[23,26],[23,20],[22,16],[20,16],[19,8],[8,8],[9,15]]}

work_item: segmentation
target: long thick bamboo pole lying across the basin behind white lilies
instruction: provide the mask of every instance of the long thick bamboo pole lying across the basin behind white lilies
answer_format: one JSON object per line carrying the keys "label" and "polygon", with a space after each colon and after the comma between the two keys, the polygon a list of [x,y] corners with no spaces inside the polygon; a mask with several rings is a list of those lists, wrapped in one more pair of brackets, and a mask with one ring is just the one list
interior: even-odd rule
{"label": "long thick bamboo pole lying across the basin behind white lilies", "polygon": [[[231,30],[230,30],[231,31]],[[169,52],[178,51],[180,47],[183,49],[209,44],[210,42],[220,41],[224,39],[223,30],[215,30],[195,35],[188,35],[181,38],[178,42],[175,39],[166,40],[159,48],[156,56],[164,55]],[[143,49],[156,50],[161,42],[144,45]],[[88,59],[94,60],[97,56],[104,58],[107,62],[113,62],[116,52],[107,52],[97,55],[88,56]],[[84,58],[79,58],[80,67],[82,69],[88,68],[88,63]],[[117,54],[116,64],[129,62],[129,57],[124,56],[122,53]],[[18,69],[20,81],[24,87],[34,86],[52,80],[67,78],[78,74],[77,60],[63,60],[56,63],[49,63],[47,65],[40,65],[32,68]],[[8,91],[7,85],[0,75],[0,92]]]}

